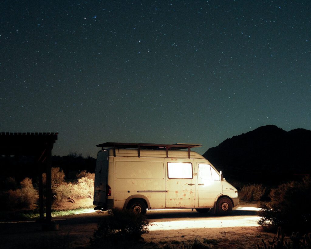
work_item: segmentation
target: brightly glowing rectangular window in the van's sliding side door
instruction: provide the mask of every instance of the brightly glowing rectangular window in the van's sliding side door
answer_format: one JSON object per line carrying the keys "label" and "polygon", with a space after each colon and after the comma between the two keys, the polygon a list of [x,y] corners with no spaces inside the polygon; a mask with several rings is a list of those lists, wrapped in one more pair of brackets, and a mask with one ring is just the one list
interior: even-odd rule
{"label": "brightly glowing rectangular window in the van's sliding side door", "polygon": [[190,162],[168,162],[168,178],[192,179],[192,163]]}

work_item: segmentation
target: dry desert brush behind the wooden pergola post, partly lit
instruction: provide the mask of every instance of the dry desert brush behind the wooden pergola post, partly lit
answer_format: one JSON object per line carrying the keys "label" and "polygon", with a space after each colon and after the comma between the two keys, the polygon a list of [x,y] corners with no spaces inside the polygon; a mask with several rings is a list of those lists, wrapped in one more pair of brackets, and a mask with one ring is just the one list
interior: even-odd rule
{"label": "dry desert brush behind the wooden pergola post, partly lit", "polygon": [[[69,180],[66,180],[65,173],[59,167],[52,167],[51,173],[53,208],[58,209],[60,204],[67,201],[93,198],[94,173],[79,171],[74,179]],[[45,187],[45,173],[43,184]],[[0,201],[3,217],[21,218],[21,214],[25,214],[25,218],[34,217],[35,213],[38,213],[38,182],[26,177],[17,183],[13,177],[7,177],[1,183]],[[7,213],[10,214],[7,216]]]}

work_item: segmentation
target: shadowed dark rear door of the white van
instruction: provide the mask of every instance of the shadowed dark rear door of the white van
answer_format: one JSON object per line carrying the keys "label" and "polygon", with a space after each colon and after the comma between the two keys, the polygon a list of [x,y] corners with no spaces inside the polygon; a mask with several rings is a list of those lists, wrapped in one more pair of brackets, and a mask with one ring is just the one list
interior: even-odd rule
{"label": "shadowed dark rear door of the white van", "polygon": [[107,204],[108,155],[109,151],[106,150],[97,153],[93,201],[95,209],[105,208]]}

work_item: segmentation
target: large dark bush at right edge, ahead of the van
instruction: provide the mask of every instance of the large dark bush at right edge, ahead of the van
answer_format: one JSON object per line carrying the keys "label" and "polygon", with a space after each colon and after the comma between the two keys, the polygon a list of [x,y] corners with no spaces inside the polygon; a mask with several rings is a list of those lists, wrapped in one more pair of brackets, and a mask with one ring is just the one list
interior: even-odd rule
{"label": "large dark bush at right edge, ahead of the van", "polygon": [[264,228],[306,232],[311,225],[311,180],[306,177],[301,182],[289,182],[272,189],[270,203],[259,204],[258,212],[262,218],[258,224]]}

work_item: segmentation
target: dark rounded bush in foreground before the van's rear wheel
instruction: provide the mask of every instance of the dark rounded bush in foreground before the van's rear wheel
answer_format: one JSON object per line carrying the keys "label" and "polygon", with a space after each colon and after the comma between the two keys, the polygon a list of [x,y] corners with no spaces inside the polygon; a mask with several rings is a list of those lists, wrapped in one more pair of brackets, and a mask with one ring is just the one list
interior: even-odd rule
{"label": "dark rounded bush in foreground before the van's rear wheel", "polygon": [[142,214],[132,210],[113,209],[108,216],[98,224],[91,240],[95,247],[109,245],[120,241],[137,241],[141,235],[149,232],[149,220]]}

